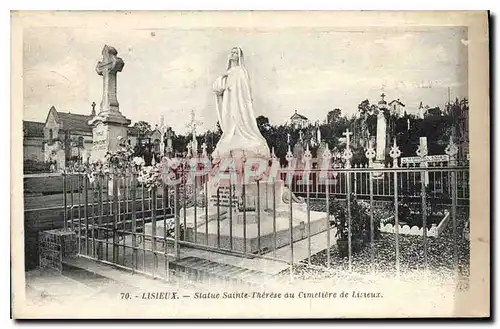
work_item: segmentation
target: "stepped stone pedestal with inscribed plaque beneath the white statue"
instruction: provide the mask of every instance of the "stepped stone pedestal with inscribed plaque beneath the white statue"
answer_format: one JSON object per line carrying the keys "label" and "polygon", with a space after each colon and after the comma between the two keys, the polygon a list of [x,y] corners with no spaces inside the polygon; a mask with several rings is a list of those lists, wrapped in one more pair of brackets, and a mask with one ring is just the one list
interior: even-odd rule
{"label": "stepped stone pedestal with inscribed plaque beneath the white statue", "polygon": [[[185,213],[181,209],[181,223],[186,218],[185,240],[221,249],[266,253],[275,247],[289,245],[290,235],[293,242],[300,241],[308,235],[325,231],[329,225],[326,212],[310,211],[308,221],[307,204],[290,195],[283,181],[277,181],[274,186],[273,183],[259,183],[260,195],[257,193],[257,183],[250,183],[245,189],[245,209],[241,207],[241,198],[238,197],[233,197],[229,207],[229,195],[225,196],[225,188],[219,192],[218,206],[211,198],[208,208],[198,206],[195,211],[194,207],[190,207]],[[257,199],[260,199],[260,207],[257,206]],[[151,231],[151,225],[146,224],[148,232]],[[161,222],[157,223],[157,232],[163,231],[162,225]]]}

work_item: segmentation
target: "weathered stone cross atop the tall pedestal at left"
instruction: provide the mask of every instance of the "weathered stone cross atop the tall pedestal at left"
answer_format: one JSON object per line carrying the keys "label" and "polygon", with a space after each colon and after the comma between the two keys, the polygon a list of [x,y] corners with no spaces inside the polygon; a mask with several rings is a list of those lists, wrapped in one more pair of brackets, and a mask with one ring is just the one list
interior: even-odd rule
{"label": "weathered stone cross atop the tall pedestal at left", "polygon": [[103,77],[101,112],[120,112],[116,98],[116,75],[125,65],[123,60],[116,55],[114,47],[105,45],[102,49],[102,60],[97,63],[96,72]]}

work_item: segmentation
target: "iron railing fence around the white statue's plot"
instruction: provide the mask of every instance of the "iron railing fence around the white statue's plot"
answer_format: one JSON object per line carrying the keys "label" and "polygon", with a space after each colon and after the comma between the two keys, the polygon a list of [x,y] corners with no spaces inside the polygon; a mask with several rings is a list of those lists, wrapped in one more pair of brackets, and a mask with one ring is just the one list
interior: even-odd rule
{"label": "iron railing fence around the white statue's plot", "polygon": [[[376,223],[381,220],[375,218],[376,204],[382,201],[392,207],[394,266],[399,273],[401,231],[409,230],[401,225],[400,204],[408,198],[412,212],[421,218],[421,235],[417,235],[424,251],[422,266],[428,269],[429,235],[434,236],[441,229],[439,224],[426,229],[429,211],[432,211],[429,200],[435,199],[447,207],[445,212],[452,227],[453,265],[458,268],[458,245],[462,236],[457,206],[468,205],[468,167],[339,168],[326,173],[316,169],[282,168],[278,177],[270,184],[257,181],[256,189],[251,192],[243,185],[238,199],[233,198],[237,189],[233,183],[227,190],[217,189],[215,196],[208,195],[207,177],[193,183],[183,179],[178,184],[148,188],[138,181],[137,174],[98,175],[93,181],[83,174],[64,174],[65,228],[76,232],[80,256],[167,280],[170,262],[179,259],[181,251],[188,248],[282,262],[290,266],[293,276],[295,265],[311,263],[313,253],[317,252],[311,248],[311,241],[318,234],[326,235],[322,249],[326,253],[326,266],[332,266],[331,247],[339,229],[332,219],[331,206],[337,199],[347,205],[345,235],[349,270],[352,270],[357,243],[353,232],[359,224],[358,219],[353,218],[356,214],[351,213],[352,203],[366,200],[369,216],[366,243],[374,266]],[[304,198],[305,217],[300,224],[296,222],[293,202],[288,202],[286,209],[276,206],[280,201],[277,195],[280,181]],[[70,192],[66,193],[67,190]],[[271,199],[266,200],[272,201],[266,201],[264,206],[257,197],[254,205],[245,204],[248,193],[255,192],[258,196],[271,195]],[[229,197],[224,197],[228,193]],[[213,205],[211,209],[206,207],[208,204]],[[314,208],[314,204],[319,206]],[[320,213],[322,216],[313,218]],[[262,218],[264,216],[266,218]],[[241,231],[235,231],[236,228]],[[298,241],[307,241],[307,257],[300,261],[294,258],[294,245]],[[286,257],[277,252],[287,248]]]}

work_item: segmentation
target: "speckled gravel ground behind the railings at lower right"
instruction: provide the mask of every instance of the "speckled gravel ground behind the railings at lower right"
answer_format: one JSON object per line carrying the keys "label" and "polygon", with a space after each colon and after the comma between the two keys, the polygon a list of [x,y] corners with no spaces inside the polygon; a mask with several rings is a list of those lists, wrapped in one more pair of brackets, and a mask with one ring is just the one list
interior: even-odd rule
{"label": "speckled gravel ground behind the railings at lower right", "polygon": [[[315,205],[322,208],[321,205]],[[324,207],[324,206],[323,206]],[[385,209],[387,213],[391,209]],[[469,277],[469,241],[464,239],[464,225],[468,221],[467,208],[458,207],[457,220],[457,251],[458,251],[458,285],[461,289],[468,286]],[[380,233],[374,241],[374,257],[367,243],[359,251],[352,254],[352,273],[362,276],[373,275],[377,279],[396,278],[396,241],[394,233]],[[428,272],[424,267],[423,237],[399,234],[400,278],[403,281],[425,280],[428,282],[444,282],[456,279],[454,272],[454,239],[451,220],[447,223],[439,237],[427,237]],[[308,259],[304,260],[308,263]],[[349,273],[347,257],[340,257],[336,244],[330,248],[330,267],[327,267],[327,252],[323,250],[310,259],[310,266],[296,266],[294,275],[303,280],[321,280],[325,278],[345,277]],[[282,272],[289,275],[289,270]]]}

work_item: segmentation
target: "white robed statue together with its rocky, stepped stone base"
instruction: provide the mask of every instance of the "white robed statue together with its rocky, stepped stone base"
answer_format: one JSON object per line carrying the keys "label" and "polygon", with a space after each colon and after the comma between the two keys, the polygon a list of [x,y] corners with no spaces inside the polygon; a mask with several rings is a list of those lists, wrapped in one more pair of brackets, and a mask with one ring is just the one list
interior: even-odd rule
{"label": "white robed statue together with its rocky, stepped stone base", "polygon": [[[181,209],[180,217],[187,219],[186,239],[254,253],[288,245],[290,226],[293,241],[309,231],[311,235],[324,231],[326,214],[309,211],[277,176],[279,161],[257,127],[249,74],[239,47],[231,49],[226,72],[215,80],[213,91],[222,136],[212,153],[208,186],[199,187],[199,192],[208,191],[208,204],[187,208],[185,213]],[[228,170],[232,173],[225,175]],[[203,199],[202,193],[198,200]],[[147,231],[150,225],[146,224]],[[158,232],[161,225],[157,223]],[[276,245],[271,238],[274,231]]]}

